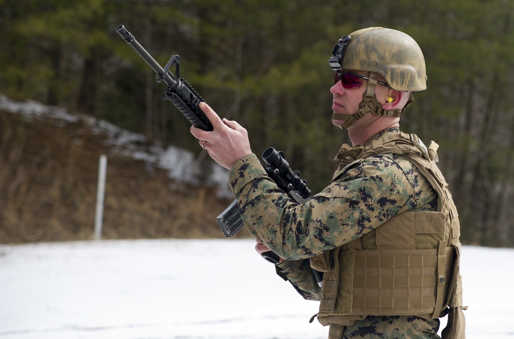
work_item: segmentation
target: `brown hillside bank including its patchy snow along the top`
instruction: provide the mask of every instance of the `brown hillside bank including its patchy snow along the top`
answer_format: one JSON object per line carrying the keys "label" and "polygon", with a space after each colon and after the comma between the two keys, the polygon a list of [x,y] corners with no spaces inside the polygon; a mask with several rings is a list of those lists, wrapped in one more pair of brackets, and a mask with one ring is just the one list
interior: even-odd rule
{"label": "brown hillside bank including its patchy snow along the top", "polygon": [[102,154],[103,238],[223,237],[215,217],[232,199],[221,167],[92,117],[1,97],[0,243],[91,239]]}

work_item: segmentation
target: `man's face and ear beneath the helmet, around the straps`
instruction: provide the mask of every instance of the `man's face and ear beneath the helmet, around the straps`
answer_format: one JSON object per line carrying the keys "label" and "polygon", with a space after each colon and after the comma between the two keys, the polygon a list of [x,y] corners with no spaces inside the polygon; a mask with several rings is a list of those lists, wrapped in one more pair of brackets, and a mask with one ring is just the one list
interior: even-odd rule
{"label": "man's face and ear beneath the helmet, around the straps", "polygon": [[[363,71],[354,71],[354,70],[344,70],[348,72],[353,72],[356,74],[360,74],[364,77],[369,77],[370,72]],[[343,80],[344,81],[344,80]],[[351,79],[351,81],[357,81],[361,83],[360,88],[344,88],[342,81],[339,80],[334,86],[331,87],[330,91],[332,92],[332,111],[334,113],[343,114],[348,117],[348,119],[355,114],[359,110],[359,104],[363,100],[364,93],[368,87],[368,81],[364,79]],[[389,87],[377,84],[375,86],[375,93],[377,94],[377,98],[381,98],[383,95],[379,92],[386,92]],[[336,126],[341,126],[348,119],[345,120],[332,120],[332,123]]]}

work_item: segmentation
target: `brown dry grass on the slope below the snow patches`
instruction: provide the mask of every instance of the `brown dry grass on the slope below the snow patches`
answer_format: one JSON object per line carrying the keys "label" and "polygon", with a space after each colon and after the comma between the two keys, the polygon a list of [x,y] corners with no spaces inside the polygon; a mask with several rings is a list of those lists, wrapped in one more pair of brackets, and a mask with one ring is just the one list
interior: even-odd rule
{"label": "brown dry grass on the slope below the snow patches", "polygon": [[230,201],[217,199],[214,187],[172,190],[166,173],[109,155],[83,123],[0,112],[0,243],[92,239],[101,154],[103,238],[223,237],[214,218]]}

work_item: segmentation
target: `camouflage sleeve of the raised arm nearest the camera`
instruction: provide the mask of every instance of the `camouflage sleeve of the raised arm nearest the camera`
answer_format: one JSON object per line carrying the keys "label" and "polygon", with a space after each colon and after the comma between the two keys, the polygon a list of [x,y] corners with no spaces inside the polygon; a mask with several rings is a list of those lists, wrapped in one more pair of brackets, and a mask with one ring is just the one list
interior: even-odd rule
{"label": "camouflage sleeve of the raised arm nearest the camera", "polygon": [[411,181],[389,157],[359,161],[305,204],[278,189],[253,154],[233,166],[229,181],[248,231],[287,260],[339,247],[417,203]]}

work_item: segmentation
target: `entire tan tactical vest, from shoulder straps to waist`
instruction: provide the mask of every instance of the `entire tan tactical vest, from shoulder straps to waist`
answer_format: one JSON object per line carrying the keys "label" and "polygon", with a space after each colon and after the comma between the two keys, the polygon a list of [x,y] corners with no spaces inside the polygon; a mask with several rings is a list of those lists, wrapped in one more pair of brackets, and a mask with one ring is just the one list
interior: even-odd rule
{"label": "entire tan tactical vest, from shoulder straps to waist", "polygon": [[[320,304],[319,321],[324,325],[348,325],[366,315],[433,319],[443,315],[449,304],[462,305],[457,210],[448,184],[432,161],[437,145],[419,152],[420,147],[410,143],[413,139],[418,143],[417,137],[400,133],[375,140],[374,145],[342,147],[336,157],[340,167],[334,177],[353,161],[372,155],[393,153],[408,158],[437,192],[438,210],[400,213],[332,251],[333,265],[324,274]],[[326,286],[325,279],[331,280]]]}

